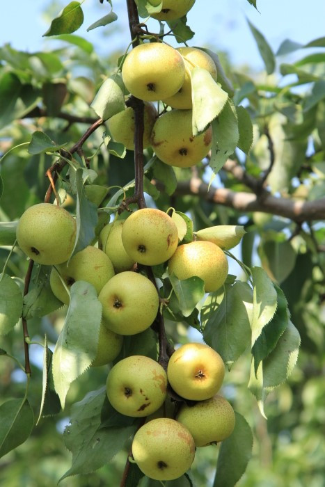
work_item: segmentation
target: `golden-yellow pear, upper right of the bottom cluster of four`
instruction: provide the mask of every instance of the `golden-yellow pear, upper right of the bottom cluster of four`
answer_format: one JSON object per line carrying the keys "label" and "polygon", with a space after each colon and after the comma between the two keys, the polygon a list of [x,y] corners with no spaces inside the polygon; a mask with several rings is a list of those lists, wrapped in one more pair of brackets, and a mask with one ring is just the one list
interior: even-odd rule
{"label": "golden-yellow pear, upper right of the bottom cluster of four", "polygon": [[168,362],[168,381],[177,394],[191,401],[203,401],[219,391],[225,365],[219,353],[201,343],[180,346]]}

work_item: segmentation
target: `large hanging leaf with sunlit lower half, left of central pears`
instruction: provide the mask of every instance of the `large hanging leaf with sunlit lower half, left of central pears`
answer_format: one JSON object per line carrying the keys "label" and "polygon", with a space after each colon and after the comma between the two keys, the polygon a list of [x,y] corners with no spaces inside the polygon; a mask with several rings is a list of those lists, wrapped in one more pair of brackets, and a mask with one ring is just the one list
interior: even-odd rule
{"label": "large hanging leaf with sunlit lower half, left of central pears", "polygon": [[77,281],[53,354],[53,378],[62,409],[70,384],[90,366],[97,353],[102,305],[93,285]]}

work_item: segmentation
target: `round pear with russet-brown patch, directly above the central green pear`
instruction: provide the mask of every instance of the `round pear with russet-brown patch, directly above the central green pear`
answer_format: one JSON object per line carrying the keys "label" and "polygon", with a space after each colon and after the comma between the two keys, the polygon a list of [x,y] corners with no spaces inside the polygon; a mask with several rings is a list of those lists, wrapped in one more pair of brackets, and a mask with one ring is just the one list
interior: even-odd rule
{"label": "round pear with russet-brown patch, directly above the central green pear", "polygon": [[127,254],[145,266],[168,260],[178,244],[177,226],[160,209],[134,211],[122,227],[122,242]]}

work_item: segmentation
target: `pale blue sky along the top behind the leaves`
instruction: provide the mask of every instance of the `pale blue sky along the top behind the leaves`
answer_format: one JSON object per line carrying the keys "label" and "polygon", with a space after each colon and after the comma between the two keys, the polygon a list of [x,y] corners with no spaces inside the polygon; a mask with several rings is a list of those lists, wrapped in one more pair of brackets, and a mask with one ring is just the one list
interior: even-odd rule
{"label": "pale blue sky along the top behind the leaves", "polygon": [[[15,49],[30,52],[56,48],[57,41],[42,38],[49,27],[43,9],[54,4],[53,18],[68,3],[69,0],[6,2],[0,15],[0,45],[8,42]],[[99,0],[84,0],[85,21],[76,34],[93,42],[100,53],[116,47],[125,49],[129,43],[125,3],[113,0],[119,19],[111,28],[100,27],[87,33],[87,26],[106,15],[110,6],[106,1],[100,4]],[[264,34],[274,51],[285,38],[304,44],[325,35],[325,0],[257,0],[257,6],[259,12],[247,0],[196,0],[188,14],[188,23],[196,32],[191,45],[212,45],[216,51],[228,51],[235,65],[248,64],[260,70],[263,63],[246,18]],[[158,23],[152,21],[151,26],[157,28]]]}

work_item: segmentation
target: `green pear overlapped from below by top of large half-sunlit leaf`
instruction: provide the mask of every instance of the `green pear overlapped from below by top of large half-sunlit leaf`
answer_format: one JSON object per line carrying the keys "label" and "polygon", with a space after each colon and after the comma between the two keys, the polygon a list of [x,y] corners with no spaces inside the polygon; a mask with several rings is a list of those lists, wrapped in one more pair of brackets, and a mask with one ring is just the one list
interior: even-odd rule
{"label": "green pear overlapped from below by top of large half-sunlit leaf", "polygon": [[66,292],[61,278],[68,289],[76,280],[90,282],[99,294],[104,284],[115,274],[109,257],[102,250],[93,246],[88,246],[75,254],[69,263],[58,264],[56,269],[51,270],[49,284],[54,296],[65,304],[69,304],[70,296]]}

